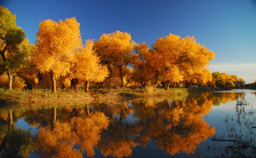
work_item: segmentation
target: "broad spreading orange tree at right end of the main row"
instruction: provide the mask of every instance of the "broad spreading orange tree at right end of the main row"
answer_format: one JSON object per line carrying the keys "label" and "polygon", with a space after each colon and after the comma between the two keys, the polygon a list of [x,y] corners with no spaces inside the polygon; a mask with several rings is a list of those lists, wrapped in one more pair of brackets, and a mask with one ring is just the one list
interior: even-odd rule
{"label": "broad spreading orange tree at right end of the main row", "polygon": [[[209,61],[214,59],[214,52],[196,43],[195,37],[180,38],[169,34],[158,38],[149,50],[149,62],[158,72],[162,72],[165,89],[171,82],[186,80],[189,82],[193,74],[200,74],[207,69]],[[157,57],[158,56],[158,57]],[[197,75],[197,77],[199,77]]]}

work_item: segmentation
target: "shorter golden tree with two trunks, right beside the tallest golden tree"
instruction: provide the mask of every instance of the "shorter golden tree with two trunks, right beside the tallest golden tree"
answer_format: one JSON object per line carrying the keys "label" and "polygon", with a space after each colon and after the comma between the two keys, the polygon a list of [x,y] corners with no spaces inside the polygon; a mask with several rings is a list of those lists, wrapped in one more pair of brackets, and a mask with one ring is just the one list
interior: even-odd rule
{"label": "shorter golden tree with two trunks, right beside the tallest golden tree", "polygon": [[[72,67],[72,78],[78,84],[78,79],[85,81],[85,91],[88,91],[89,82],[102,82],[108,75],[106,65],[99,64],[99,57],[93,50],[93,40],[86,40],[85,47],[75,53],[75,62]],[[75,84],[75,90],[77,88]]]}

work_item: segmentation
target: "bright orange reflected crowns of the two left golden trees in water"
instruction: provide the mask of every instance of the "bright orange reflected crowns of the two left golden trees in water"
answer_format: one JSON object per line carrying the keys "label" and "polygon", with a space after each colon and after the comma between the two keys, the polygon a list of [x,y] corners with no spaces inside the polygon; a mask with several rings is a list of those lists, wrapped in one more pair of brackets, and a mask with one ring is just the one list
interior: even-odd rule
{"label": "bright orange reflected crowns of the two left golden trees in water", "polygon": [[[99,142],[102,129],[107,129],[108,118],[102,112],[89,117],[74,117],[70,122],[55,121],[54,128],[41,127],[38,133],[39,155],[51,158],[82,158],[87,151],[94,155],[94,147]],[[77,145],[78,149],[74,146]]]}

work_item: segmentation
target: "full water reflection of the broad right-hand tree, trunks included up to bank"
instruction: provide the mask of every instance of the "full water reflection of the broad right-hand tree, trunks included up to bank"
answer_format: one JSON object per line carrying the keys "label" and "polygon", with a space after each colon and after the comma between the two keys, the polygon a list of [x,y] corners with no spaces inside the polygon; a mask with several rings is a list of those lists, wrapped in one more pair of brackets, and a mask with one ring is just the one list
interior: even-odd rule
{"label": "full water reflection of the broad right-hand tree, trunks included up to bank", "polygon": [[193,153],[200,142],[215,134],[215,129],[203,119],[212,108],[212,101],[206,97],[171,99],[154,104],[151,100],[151,106],[139,102],[133,104],[135,117],[146,120],[141,140],[149,137],[171,155],[181,151]]}

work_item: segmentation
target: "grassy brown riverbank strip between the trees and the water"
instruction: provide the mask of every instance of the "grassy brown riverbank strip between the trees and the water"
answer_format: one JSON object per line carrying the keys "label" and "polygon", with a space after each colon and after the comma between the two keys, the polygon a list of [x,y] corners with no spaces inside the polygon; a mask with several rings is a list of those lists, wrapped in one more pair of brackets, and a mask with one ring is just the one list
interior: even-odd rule
{"label": "grassy brown riverbank strip between the trees and the water", "polygon": [[[223,90],[223,89],[217,89]],[[201,93],[205,91],[215,91],[215,88],[123,88],[110,90],[83,90],[74,92],[72,90],[62,90],[52,93],[49,90],[36,91],[1,91],[0,108],[9,109],[15,107],[43,107],[52,104],[91,104],[96,102],[116,102],[122,99],[138,98],[160,98],[170,96],[187,96],[189,94]]]}

